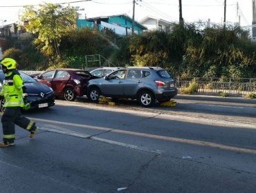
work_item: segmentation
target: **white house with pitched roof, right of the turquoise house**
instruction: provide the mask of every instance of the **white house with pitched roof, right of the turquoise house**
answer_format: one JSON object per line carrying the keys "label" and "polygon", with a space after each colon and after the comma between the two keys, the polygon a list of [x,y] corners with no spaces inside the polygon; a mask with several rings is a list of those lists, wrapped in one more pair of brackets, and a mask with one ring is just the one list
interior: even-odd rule
{"label": "white house with pitched roof, right of the turquoise house", "polygon": [[146,26],[148,30],[165,30],[170,27],[172,22],[158,19],[156,17],[147,16],[140,20],[143,26]]}

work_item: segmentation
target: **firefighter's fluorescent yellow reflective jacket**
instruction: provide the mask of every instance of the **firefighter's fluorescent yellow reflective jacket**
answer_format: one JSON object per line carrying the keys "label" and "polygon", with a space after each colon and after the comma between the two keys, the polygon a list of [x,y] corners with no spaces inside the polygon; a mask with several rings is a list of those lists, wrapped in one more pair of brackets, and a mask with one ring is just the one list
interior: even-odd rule
{"label": "firefighter's fluorescent yellow reflective jacket", "polygon": [[24,107],[22,87],[24,87],[24,84],[18,74],[13,72],[6,74],[0,93],[5,99],[3,107]]}

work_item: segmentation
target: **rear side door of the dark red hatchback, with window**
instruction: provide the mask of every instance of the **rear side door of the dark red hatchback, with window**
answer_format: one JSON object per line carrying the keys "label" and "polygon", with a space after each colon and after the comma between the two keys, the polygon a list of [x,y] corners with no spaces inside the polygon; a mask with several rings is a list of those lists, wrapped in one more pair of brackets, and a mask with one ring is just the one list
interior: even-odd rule
{"label": "rear side door of the dark red hatchback, with window", "polygon": [[70,77],[71,75],[65,70],[56,70],[52,81],[52,88],[55,91],[55,95],[62,95]]}

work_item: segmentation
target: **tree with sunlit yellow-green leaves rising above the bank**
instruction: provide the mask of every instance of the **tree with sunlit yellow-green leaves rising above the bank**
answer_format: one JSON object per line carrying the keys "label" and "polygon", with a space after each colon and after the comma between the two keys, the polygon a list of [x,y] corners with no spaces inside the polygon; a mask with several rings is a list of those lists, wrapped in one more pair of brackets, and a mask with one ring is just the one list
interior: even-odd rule
{"label": "tree with sunlit yellow-green leaves rising above the bank", "polygon": [[45,55],[60,57],[60,41],[68,30],[75,28],[78,8],[53,3],[24,8],[20,20],[28,22],[24,25],[28,32],[38,35],[34,40],[37,48]]}

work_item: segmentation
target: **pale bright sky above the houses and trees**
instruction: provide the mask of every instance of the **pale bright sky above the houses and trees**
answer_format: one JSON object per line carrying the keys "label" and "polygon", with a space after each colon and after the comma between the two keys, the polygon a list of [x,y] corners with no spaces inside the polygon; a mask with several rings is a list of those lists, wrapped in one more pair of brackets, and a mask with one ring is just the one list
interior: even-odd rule
{"label": "pale bright sky above the houses and trees", "polygon": [[[38,5],[39,3],[71,3],[71,6],[79,6],[80,18],[109,16],[114,14],[128,14],[132,17],[133,0],[0,0],[0,25],[14,23],[22,14],[22,6]],[[136,0],[135,19],[140,21],[144,17],[151,16],[166,21],[179,21],[179,0]],[[237,9],[238,3],[238,9]],[[224,0],[182,0],[183,19],[185,22],[210,21],[212,23],[223,22]],[[226,0],[226,22],[237,22],[237,12],[241,16],[241,26],[252,25],[252,0]],[[64,6],[67,4],[64,4]],[[4,22],[3,22],[4,21]]]}

